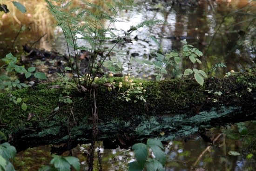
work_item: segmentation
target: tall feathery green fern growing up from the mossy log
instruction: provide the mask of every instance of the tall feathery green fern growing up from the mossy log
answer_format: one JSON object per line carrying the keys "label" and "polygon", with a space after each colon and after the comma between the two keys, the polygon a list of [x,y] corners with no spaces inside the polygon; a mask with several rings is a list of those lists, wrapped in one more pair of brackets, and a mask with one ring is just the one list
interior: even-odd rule
{"label": "tall feathery green fern growing up from the mossy log", "polygon": [[[136,26],[131,26],[127,31],[118,30],[110,26],[114,22],[122,21],[116,20],[113,16],[116,16],[120,10],[131,9],[133,0],[112,0],[111,2],[101,1],[101,5],[85,2],[85,7],[74,8],[71,7],[71,1],[66,3],[64,6],[61,5],[62,0],[54,1],[57,2],[58,5],[54,5],[51,1],[46,0],[50,12],[57,20],[57,25],[63,30],[68,49],[69,46],[71,46],[74,49],[74,53],[76,53],[77,50],[88,50],[91,52],[91,56],[89,57],[89,65],[85,71],[85,75],[83,76],[85,78],[83,85],[88,87],[90,87],[94,81],[94,79],[91,78],[94,78],[96,73],[101,71],[102,65],[104,65],[111,72],[117,72],[118,70],[116,70],[116,67],[119,69],[122,67],[124,61],[119,61],[117,58],[112,58],[112,60],[105,62],[109,53],[114,50],[114,47],[118,43],[121,41],[125,41],[127,43],[131,42],[129,40],[130,34],[140,27],[152,26],[156,23],[162,22],[162,20],[147,20],[139,23]],[[103,6],[105,7],[103,8]],[[102,24],[101,21],[103,20],[108,20],[108,26]],[[120,36],[117,34],[117,31],[122,33],[122,35]],[[77,37],[77,34],[80,34],[82,37]],[[77,39],[86,40],[86,42],[88,42],[88,46],[78,46],[76,44]],[[103,45],[106,44],[106,40],[108,39],[115,39],[116,43],[112,46],[112,48],[107,50],[106,55],[104,54],[101,56],[101,62],[96,64],[96,59],[99,57],[98,52],[106,51],[106,49],[103,48]],[[76,68],[76,74],[81,77],[81,73],[76,66],[77,59],[75,58],[75,66],[68,69],[72,69],[72,72],[74,73],[74,68]]]}

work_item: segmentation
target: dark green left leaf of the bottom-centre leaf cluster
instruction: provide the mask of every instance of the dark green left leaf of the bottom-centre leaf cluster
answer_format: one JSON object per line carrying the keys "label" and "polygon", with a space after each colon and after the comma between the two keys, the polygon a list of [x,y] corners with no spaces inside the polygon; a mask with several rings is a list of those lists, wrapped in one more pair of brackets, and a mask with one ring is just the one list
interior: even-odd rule
{"label": "dark green left leaf of the bottom-centre leaf cluster", "polygon": [[132,146],[134,149],[135,157],[140,165],[144,165],[148,158],[148,147],[143,143],[137,143]]}

